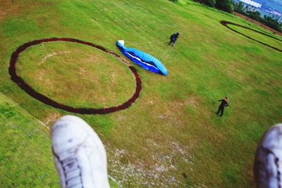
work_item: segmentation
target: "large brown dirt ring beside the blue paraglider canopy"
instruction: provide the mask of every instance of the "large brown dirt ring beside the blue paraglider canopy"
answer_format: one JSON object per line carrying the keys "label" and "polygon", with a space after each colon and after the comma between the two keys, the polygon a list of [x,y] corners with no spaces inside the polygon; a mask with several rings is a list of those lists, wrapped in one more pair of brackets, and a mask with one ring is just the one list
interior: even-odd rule
{"label": "large brown dirt ring beside the blue paraglider canopy", "polygon": [[[27,84],[25,82],[25,80],[23,80],[23,78],[21,78],[20,76],[17,75],[16,63],[17,63],[17,60],[18,60],[18,56],[20,55],[20,53],[25,51],[25,49],[29,48],[30,46],[34,46],[34,45],[41,44],[41,43],[44,43],[44,42],[56,42],[56,41],[74,42],[74,43],[79,43],[79,44],[85,44],[87,46],[92,46],[96,49],[102,50],[106,53],[109,53],[113,56],[116,56],[116,58],[119,58],[123,63],[128,65],[128,68],[131,70],[131,72],[135,76],[136,87],[135,87],[135,93],[133,94],[133,96],[131,96],[131,98],[128,99],[128,101],[125,101],[123,104],[121,104],[119,106],[112,106],[112,107],[107,107],[107,108],[75,108],[73,106],[67,106],[65,104],[61,104],[59,102],[56,102],[56,101],[50,99],[49,97],[44,96],[44,94],[40,94],[39,92],[35,91],[35,89],[30,87],[30,85]],[[14,51],[12,56],[11,56],[8,71],[9,71],[9,74],[11,75],[11,79],[14,82],[16,82],[16,84],[18,84],[18,86],[21,89],[25,90],[25,92],[27,92],[27,94],[29,94],[30,96],[34,97],[35,99],[37,99],[39,101],[42,101],[44,104],[48,104],[49,106],[53,106],[54,108],[60,108],[60,109],[63,109],[64,111],[69,111],[71,113],[106,114],[106,113],[113,113],[113,112],[116,112],[116,111],[121,111],[121,110],[131,106],[137,100],[137,98],[140,96],[140,92],[141,92],[141,89],[142,89],[142,81],[141,81],[140,76],[138,75],[135,68],[133,66],[131,66],[127,61],[125,61],[124,58],[122,58],[121,56],[119,56],[118,54],[116,54],[113,51],[109,51],[108,49],[105,49],[102,46],[98,46],[96,44],[92,44],[91,42],[84,42],[84,41],[81,41],[79,39],[72,39],[72,38],[39,39],[39,40],[34,40],[32,42],[27,42],[27,43],[19,46],[18,49],[16,49],[16,51]]]}

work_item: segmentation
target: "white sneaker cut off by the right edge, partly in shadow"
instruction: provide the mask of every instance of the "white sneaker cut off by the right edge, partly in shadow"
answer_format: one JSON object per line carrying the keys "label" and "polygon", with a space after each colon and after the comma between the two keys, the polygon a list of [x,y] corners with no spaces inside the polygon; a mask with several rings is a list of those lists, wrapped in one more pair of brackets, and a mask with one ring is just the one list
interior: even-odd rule
{"label": "white sneaker cut off by the right edge, partly in shadow", "polygon": [[282,124],[269,128],[262,137],[255,156],[257,187],[282,187]]}

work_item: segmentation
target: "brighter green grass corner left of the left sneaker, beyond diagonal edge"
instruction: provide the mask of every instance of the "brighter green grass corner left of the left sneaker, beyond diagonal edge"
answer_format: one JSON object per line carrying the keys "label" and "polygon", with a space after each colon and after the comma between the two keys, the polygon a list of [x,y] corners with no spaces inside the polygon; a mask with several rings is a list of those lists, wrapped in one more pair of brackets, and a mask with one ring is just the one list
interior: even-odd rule
{"label": "brighter green grass corner left of the left sneaker, beyond diagonal edge", "polygon": [[47,127],[3,94],[0,117],[0,186],[59,187]]}

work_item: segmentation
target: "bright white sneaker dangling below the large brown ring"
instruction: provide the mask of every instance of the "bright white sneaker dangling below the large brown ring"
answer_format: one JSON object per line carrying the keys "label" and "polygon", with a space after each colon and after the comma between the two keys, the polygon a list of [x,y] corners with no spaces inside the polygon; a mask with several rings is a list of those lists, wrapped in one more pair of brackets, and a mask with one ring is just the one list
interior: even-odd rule
{"label": "bright white sneaker dangling below the large brown ring", "polygon": [[59,118],[51,139],[62,187],[109,187],[104,145],[84,120],[74,115]]}

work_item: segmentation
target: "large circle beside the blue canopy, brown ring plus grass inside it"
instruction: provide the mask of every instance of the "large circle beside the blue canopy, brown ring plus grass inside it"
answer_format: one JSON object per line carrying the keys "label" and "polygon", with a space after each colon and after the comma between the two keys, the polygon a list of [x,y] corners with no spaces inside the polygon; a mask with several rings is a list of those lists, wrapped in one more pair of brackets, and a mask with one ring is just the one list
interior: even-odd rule
{"label": "large circle beside the blue canopy, brown ring plus grass inside it", "polygon": [[[58,43],[55,45],[54,42]],[[63,45],[66,43],[71,44],[71,46],[80,45],[80,48],[76,48],[78,51],[75,51],[75,48],[70,48],[71,50],[59,50],[62,49]],[[50,48],[52,51],[49,51],[47,54],[43,54],[41,53],[42,51],[39,50],[40,48],[47,49],[48,45],[53,44],[54,46],[51,46]],[[31,46],[36,46],[37,50],[31,51]],[[54,48],[57,49],[54,51]],[[91,55],[90,52],[91,49],[93,52],[93,48],[95,51],[98,51],[98,53]],[[32,56],[21,57],[20,54],[23,51],[27,54],[32,54]],[[99,51],[111,54],[111,56],[107,57],[107,59],[103,59],[104,55],[99,53]],[[111,60],[111,58],[114,59]],[[125,68],[123,75],[117,75],[117,72],[115,72],[111,67],[116,66],[116,68],[118,68],[118,62],[115,60],[116,58],[125,63],[125,65],[129,68],[128,70]],[[29,65],[26,61],[33,63],[36,62],[35,65],[38,68],[41,68],[41,70],[29,67],[32,65]],[[81,66],[80,61],[84,62],[84,66]],[[97,62],[99,65],[95,66],[95,63],[93,62]],[[116,64],[104,65],[106,63],[103,64],[103,62]],[[71,66],[68,63],[71,63]],[[20,88],[25,90],[27,94],[39,101],[42,101],[44,104],[72,113],[106,114],[121,111],[128,108],[137,100],[142,89],[140,76],[135,68],[125,61],[124,58],[113,51],[105,49],[103,46],[98,46],[90,42],[84,42],[79,39],[72,38],[49,38],[27,42],[22,46],[19,46],[18,49],[13,52],[8,70],[11,75],[11,79],[16,82]],[[99,75],[102,76],[93,75],[92,70],[94,73],[99,73]],[[113,71],[110,72],[111,70]],[[20,75],[25,73],[25,71],[27,71],[26,74],[28,76],[23,79]],[[128,81],[123,82],[125,79],[124,77],[128,77],[128,75],[130,75],[126,73],[133,73],[135,77],[135,85],[131,82],[131,86],[127,86],[126,82]],[[35,77],[36,79],[34,79]],[[114,79],[118,80],[115,81]],[[87,84],[81,82],[81,80],[84,80]],[[35,82],[37,84],[35,84]],[[73,84],[73,82],[75,82],[75,84]],[[115,90],[113,88],[116,87],[115,84],[119,84],[119,86],[116,91],[113,92],[113,90]],[[42,85],[44,85],[44,89],[42,89]],[[130,84],[128,83],[128,85]],[[54,90],[53,87],[55,88]],[[129,94],[129,99],[123,99],[125,96],[128,96],[128,92],[126,93],[126,91],[130,91],[131,87],[135,87],[134,94]],[[99,93],[98,89],[103,91],[104,88],[108,89],[108,91],[106,92],[106,90],[104,90],[104,93],[100,92],[98,96],[95,95]],[[45,92],[48,94],[42,94]],[[75,94],[68,97],[68,94],[73,92]],[[65,96],[62,96],[61,94],[65,94]],[[104,96],[107,96],[107,98],[105,99]],[[118,98],[119,96],[121,96],[124,101],[121,101],[121,99]],[[81,100],[79,97],[82,98],[82,101],[80,102],[78,102]],[[96,100],[93,102],[92,99],[95,99],[95,97]],[[83,101],[84,99],[88,99],[88,101]],[[64,104],[61,101],[64,101]],[[104,101],[104,104],[99,104],[99,101]],[[111,104],[106,104],[107,101],[111,101],[114,105],[111,106]],[[92,103],[94,108],[89,106]]]}

